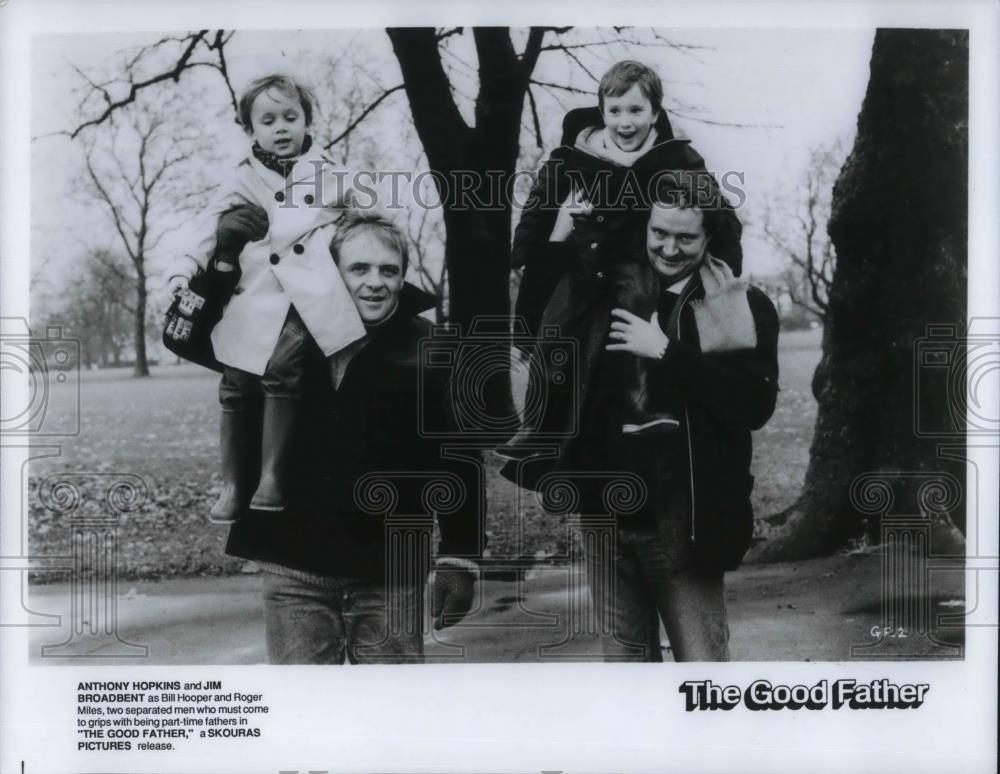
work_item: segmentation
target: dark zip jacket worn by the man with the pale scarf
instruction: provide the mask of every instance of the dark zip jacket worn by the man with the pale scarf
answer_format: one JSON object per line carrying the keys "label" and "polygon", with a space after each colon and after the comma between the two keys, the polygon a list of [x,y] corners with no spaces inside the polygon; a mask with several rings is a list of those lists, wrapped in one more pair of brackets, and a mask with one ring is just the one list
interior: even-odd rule
{"label": "dark zip jacket worn by the man with the pale scarf", "polygon": [[[637,262],[654,274],[648,263]],[[751,431],[762,427],[774,412],[778,390],[778,316],[767,296],[747,289],[757,336],[754,349],[702,353],[692,303],[704,297],[699,274],[693,275],[667,319],[660,324],[670,339],[661,361],[648,361],[650,386],[669,391],[676,402],[679,432],[653,439],[621,440],[621,425],[607,422],[608,412],[620,404],[620,386],[613,378],[603,389],[587,392],[579,407],[583,426],[559,444],[558,455],[536,462],[509,463],[504,475],[522,486],[544,493],[547,481],[560,473],[600,471],[638,472],[644,479],[653,506],[671,539],[687,541],[695,566],[705,572],[730,570],[739,565],[753,535],[750,493],[753,477]],[[605,330],[603,343],[607,341]],[[601,364],[585,380],[614,363],[621,353],[604,353]],[[617,366],[614,366],[617,367]],[[613,377],[612,371],[612,377]],[[589,379],[588,379],[589,377]],[[594,427],[597,423],[600,427]],[[632,446],[630,446],[632,444]],[[633,452],[630,458],[624,450]],[[664,476],[669,480],[661,480]],[[584,476],[577,486],[581,513],[609,513],[608,492],[602,484],[609,476]],[[572,476],[570,477],[572,479]],[[666,485],[664,487],[664,484]],[[681,487],[684,497],[672,494]],[[659,502],[657,502],[659,500]],[[667,501],[680,503],[683,512],[667,512]],[[668,523],[662,523],[662,522]]]}

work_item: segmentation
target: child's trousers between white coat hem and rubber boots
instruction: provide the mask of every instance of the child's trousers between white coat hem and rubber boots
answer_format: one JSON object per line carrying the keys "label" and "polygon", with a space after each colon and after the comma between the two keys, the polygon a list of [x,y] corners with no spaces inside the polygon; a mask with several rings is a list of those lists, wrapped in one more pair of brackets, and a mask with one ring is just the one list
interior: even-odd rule
{"label": "child's trousers between white coat hem and rubber boots", "polygon": [[241,411],[256,405],[262,395],[292,400],[301,398],[302,375],[311,338],[299,313],[294,306],[291,307],[262,376],[232,366],[225,367],[219,383],[222,410]]}

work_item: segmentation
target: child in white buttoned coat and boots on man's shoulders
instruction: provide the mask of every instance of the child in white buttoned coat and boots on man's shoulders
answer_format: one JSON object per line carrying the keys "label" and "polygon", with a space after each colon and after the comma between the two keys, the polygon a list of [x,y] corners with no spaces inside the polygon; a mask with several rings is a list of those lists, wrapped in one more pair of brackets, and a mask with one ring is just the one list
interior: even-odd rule
{"label": "child in white buttoned coat and boots on man's shoulders", "polygon": [[224,366],[216,522],[235,520],[248,503],[284,509],[283,466],[310,339],[329,358],[334,387],[364,342],[364,325],[328,249],[350,200],[347,174],[312,144],[313,104],[309,90],[286,76],[247,87],[239,113],[251,153],[209,214],[198,247],[168,281],[177,293],[207,270],[236,285],[211,336]]}

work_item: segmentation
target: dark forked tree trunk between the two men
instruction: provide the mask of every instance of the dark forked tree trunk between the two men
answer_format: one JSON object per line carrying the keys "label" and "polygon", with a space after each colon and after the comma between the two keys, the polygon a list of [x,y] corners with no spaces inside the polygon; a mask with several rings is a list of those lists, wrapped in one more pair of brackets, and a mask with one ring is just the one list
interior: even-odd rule
{"label": "dark forked tree trunk between the two men", "polygon": [[[455,106],[433,29],[387,29],[399,61],[417,135],[444,205],[449,322],[461,329],[466,364],[483,367],[475,401],[494,430],[517,429],[509,362],[494,357],[509,344],[511,203],[527,75],[505,28],[476,28],[479,93],[475,126]],[[470,341],[478,334],[482,338]],[[480,357],[482,355],[482,357]],[[463,399],[463,396],[458,396]]]}

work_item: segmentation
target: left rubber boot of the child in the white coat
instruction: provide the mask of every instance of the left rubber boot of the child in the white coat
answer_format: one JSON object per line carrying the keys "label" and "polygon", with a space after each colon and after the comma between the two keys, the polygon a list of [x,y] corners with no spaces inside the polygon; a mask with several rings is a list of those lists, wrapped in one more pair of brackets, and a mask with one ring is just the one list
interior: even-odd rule
{"label": "left rubber boot of the child in the white coat", "polygon": [[219,421],[222,447],[222,491],[209,521],[231,524],[247,507],[257,478],[260,423],[256,411],[223,411]]}

